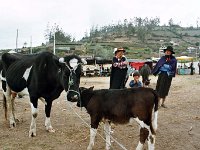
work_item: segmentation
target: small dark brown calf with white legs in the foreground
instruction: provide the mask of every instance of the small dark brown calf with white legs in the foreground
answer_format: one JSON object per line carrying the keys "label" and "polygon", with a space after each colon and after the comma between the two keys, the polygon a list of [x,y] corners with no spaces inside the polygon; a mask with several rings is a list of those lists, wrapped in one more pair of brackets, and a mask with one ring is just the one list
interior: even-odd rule
{"label": "small dark brown calf with white legs in the foreground", "polygon": [[[135,120],[140,125],[140,141],[137,150],[141,150],[145,141],[148,149],[153,150],[157,129],[158,96],[151,88],[102,89],[80,88],[81,99],[77,106],[85,107],[91,118],[90,142],[87,150],[94,146],[94,140],[100,121],[104,121],[106,149],[110,149],[110,122],[126,124]],[[81,100],[81,101],[80,101]]]}

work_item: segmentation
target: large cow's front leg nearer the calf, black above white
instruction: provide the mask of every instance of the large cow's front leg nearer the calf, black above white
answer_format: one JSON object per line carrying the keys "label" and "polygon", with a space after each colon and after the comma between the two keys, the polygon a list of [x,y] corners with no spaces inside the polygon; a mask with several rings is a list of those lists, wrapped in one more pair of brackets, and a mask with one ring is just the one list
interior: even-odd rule
{"label": "large cow's front leg nearer the calf, black above white", "polygon": [[51,106],[52,106],[52,101],[48,101],[47,105],[45,105],[45,114],[46,114],[45,127],[47,131],[55,132],[55,130],[51,125],[51,120],[50,120]]}

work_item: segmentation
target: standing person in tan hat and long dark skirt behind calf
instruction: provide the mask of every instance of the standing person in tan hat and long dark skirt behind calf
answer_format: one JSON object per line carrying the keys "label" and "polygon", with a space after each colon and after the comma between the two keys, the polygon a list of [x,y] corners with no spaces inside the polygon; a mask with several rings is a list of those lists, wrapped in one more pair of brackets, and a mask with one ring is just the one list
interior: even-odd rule
{"label": "standing person in tan hat and long dark skirt behind calf", "polygon": [[124,48],[115,48],[115,56],[112,60],[111,75],[110,75],[110,89],[125,88],[125,80],[127,74],[128,61],[124,56]]}

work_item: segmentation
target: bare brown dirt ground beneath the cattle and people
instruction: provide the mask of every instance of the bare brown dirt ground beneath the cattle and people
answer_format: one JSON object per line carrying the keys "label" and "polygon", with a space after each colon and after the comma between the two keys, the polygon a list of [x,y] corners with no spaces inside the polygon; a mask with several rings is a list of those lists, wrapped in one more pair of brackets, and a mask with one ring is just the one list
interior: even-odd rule
{"label": "bare brown dirt ground beneath the cattle and people", "polygon": [[[130,77],[131,78],[131,77]],[[130,80],[129,78],[129,80]],[[157,77],[151,76],[151,87],[155,88]],[[81,78],[81,86],[108,88],[108,77]],[[177,75],[172,81],[166,101],[168,108],[159,109],[158,130],[155,148],[158,150],[200,149],[200,75]],[[70,104],[70,105],[69,105]],[[0,99],[0,150],[84,150],[89,143],[90,118],[85,109],[65,101],[63,92],[52,107],[51,122],[56,130],[48,133],[44,127],[44,104],[39,101],[37,136],[28,137],[31,112],[28,97],[16,99],[16,128],[10,129],[4,119]],[[71,109],[72,108],[72,109]],[[74,113],[84,120],[84,122]],[[127,150],[136,148],[139,141],[138,125],[113,125],[112,136]],[[94,150],[105,149],[103,125],[100,124]],[[112,142],[113,150],[122,148]],[[147,149],[147,144],[145,148]]]}

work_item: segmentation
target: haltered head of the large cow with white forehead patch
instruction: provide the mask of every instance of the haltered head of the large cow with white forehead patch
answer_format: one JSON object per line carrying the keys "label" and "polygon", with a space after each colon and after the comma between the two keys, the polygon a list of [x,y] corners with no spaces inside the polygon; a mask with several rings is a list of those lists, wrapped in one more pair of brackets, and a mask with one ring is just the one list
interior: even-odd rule
{"label": "haltered head of the large cow with white forehead patch", "polygon": [[82,64],[86,61],[76,55],[62,57],[59,62],[65,64],[63,73],[63,87],[67,92],[67,100],[76,102],[80,98],[79,84],[82,72]]}

